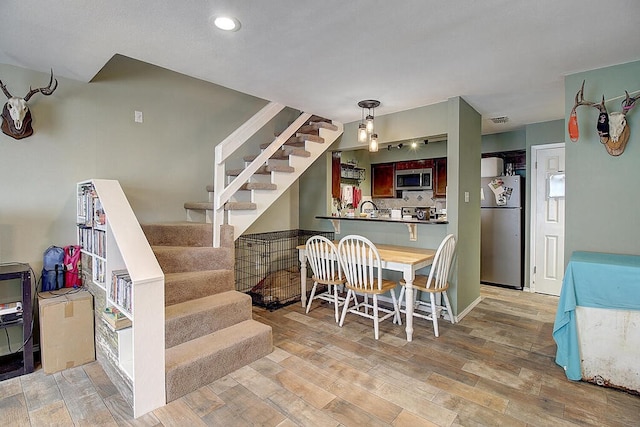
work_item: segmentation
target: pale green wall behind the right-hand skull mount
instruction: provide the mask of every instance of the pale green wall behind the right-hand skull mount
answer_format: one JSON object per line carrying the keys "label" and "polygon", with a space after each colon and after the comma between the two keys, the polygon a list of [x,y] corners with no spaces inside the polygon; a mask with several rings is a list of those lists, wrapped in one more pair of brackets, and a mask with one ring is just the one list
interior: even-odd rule
{"label": "pale green wall behind the right-hand skull mount", "polygon": [[[585,80],[584,98],[604,95],[609,113],[621,111],[624,91],[640,90],[640,61],[577,73],[565,78],[565,117]],[[636,93],[636,96],[638,94]],[[624,153],[610,156],[600,143],[598,110],[578,107],[580,139],[566,140],[565,261],[573,251],[640,255],[640,107],[627,114],[631,136]],[[566,132],[566,130],[565,130]]]}

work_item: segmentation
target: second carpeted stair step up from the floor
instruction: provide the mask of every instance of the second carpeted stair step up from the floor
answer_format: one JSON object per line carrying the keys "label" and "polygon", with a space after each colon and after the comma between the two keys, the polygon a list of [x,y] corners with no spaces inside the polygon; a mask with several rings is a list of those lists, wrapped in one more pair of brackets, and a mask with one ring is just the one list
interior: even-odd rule
{"label": "second carpeted stair step up from the floor", "polygon": [[251,319],[251,297],[232,290],[165,308],[165,348]]}

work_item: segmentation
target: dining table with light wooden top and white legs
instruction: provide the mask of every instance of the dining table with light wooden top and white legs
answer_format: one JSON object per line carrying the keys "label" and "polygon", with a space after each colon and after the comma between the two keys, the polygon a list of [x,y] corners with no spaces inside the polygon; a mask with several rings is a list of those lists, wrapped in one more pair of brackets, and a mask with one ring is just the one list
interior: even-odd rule
{"label": "dining table with light wooden top and white legs", "polygon": [[[334,242],[336,246],[338,242]],[[390,271],[402,273],[407,287],[406,296],[406,332],[407,341],[413,339],[413,281],[416,271],[431,265],[436,254],[435,249],[412,248],[408,246],[395,246],[375,244],[380,253],[382,268]],[[307,251],[305,245],[300,245],[298,249],[298,259],[300,260],[300,294],[302,296],[302,306],[307,305]]]}

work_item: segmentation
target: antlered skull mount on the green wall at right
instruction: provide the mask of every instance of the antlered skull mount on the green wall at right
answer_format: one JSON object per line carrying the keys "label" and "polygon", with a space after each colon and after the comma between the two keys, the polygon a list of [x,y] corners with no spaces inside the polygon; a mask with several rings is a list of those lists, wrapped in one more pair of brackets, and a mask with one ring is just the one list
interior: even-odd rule
{"label": "antlered skull mount on the green wall at right", "polygon": [[576,102],[571,109],[569,115],[569,138],[571,141],[576,142],[580,137],[578,129],[578,116],[576,109],[581,105],[597,108],[600,113],[598,114],[598,123],[596,129],[598,130],[598,136],[600,142],[604,144],[607,153],[612,156],[619,156],[624,152],[627,142],[629,141],[629,135],[631,131],[627,124],[626,115],[635,106],[637,97],[629,96],[629,92],[625,91],[625,99],[622,101],[622,111],[613,112],[609,114],[607,108],[604,105],[604,95],[602,101],[599,103],[590,102],[584,100],[584,80],[580,90],[576,93]]}

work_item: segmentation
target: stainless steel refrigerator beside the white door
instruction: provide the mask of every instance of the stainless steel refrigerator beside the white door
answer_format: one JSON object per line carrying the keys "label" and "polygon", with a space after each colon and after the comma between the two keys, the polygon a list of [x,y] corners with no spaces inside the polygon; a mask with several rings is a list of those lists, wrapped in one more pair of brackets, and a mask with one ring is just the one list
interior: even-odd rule
{"label": "stainless steel refrigerator beside the white door", "polygon": [[480,281],[522,289],[523,178],[481,178]]}

